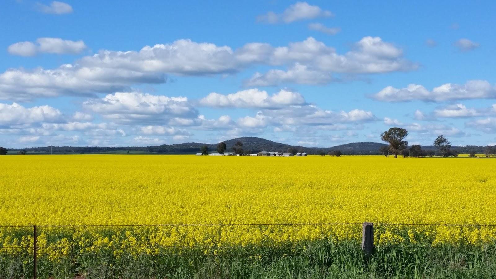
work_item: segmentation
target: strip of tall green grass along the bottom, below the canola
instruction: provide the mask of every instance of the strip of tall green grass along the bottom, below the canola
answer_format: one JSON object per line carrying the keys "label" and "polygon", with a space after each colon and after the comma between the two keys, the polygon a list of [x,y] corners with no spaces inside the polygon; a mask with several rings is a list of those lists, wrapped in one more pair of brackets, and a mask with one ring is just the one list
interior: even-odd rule
{"label": "strip of tall green grass along the bottom, below the canola", "polygon": [[[59,263],[40,256],[39,278],[495,278],[495,245],[476,247],[377,247],[368,264],[359,243],[326,241],[307,248],[229,248],[181,256],[68,256]],[[254,256],[261,255],[261,256]],[[0,278],[32,278],[31,255],[0,256]]]}

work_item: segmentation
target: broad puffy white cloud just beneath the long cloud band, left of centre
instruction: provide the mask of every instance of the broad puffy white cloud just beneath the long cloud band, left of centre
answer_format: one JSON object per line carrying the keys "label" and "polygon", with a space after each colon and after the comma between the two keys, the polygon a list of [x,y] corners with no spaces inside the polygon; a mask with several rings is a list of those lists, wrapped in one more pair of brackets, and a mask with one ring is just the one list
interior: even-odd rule
{"label": "broad puffy white cloud just beneath the long cloud band, left of centre", "polygon": [[186,97],[167,97],[139,92],[117,92],[83,106],[121,124],[164,123],[173,117],[194,118],[197,111]]}

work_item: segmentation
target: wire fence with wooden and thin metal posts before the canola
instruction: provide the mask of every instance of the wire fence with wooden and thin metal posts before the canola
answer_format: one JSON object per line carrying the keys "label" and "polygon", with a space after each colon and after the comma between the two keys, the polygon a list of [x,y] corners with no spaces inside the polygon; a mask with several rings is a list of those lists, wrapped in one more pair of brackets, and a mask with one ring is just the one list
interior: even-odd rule
{"label": "wire fence with wooden and thin metal posts before the canola", "polygon": [[[372,225],[372,227],[370,227]],[[364,252],[365,255],[373,253],[373,225],[376,228],[384,228],[387,226],[416,226],[416,227],[468,227],[468,228],[490,228],[496,230],[496,224],[456,224],[456,223],[393,223],[393,222],[376,222],[376,223],[358,223],[358,222],[309,222],[309,223],[189,223],[189,224],[61,224],[61,225],[0,225],[0,228],[13,228],[20,229],[25,232],[32,231],[33,245],[31,246],[16,246],[16,245],[2,245],[0,243],[0,257],[32,257],[34,263],[33,274],[37,274],[37,261],[39,257],[190,257],[192,255],[201,255],[202,257],[290,257],[301,255],[305,252],[316,251],[318,249],[335,249],[335,250],[349,250]],[[363,239],[362,245],[335,245],[329,243],[328,245],[84,245],[80,243],[70,243],[66,245],[48,244],[39,246],[38,237],[39,229],[43,228],[136,228],[136,227],[289,227],[289,226],[363,226]],[[372,229],[370,233],[366,233],[366,229]],[[357,227],[358,230],[358,227]],[[370,239],[372,237],[372,239]],[[367,247],[365,243],[372,243],[372,247]],[[407,248],[407,249],[443,249],[443,246],[433,245],[387,245],[387,248]],[[496,245],[488,246],[467,246],[467,247],[448,247],[452,250],[463,249],[496,249]],[[142,249],[148,249],[143,251]],[[135,250],[135,251],[133,251]],[[1,259],[0,259],[1,260]]]}

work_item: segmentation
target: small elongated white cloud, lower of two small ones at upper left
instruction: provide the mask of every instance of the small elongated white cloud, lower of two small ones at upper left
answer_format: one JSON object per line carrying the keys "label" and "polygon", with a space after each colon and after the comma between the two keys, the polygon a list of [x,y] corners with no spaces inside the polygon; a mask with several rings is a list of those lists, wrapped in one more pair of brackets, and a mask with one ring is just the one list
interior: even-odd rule
{"label": "small elongated white cloud, lower of two small ones at upper left", "polygon": [[62,40],[61,38],[38,38],[36,44],[19,42],[8,46],[12,55],[34,56],[37,53],[79,54],[86,49],[83,41]]}

